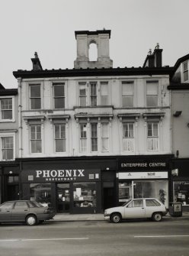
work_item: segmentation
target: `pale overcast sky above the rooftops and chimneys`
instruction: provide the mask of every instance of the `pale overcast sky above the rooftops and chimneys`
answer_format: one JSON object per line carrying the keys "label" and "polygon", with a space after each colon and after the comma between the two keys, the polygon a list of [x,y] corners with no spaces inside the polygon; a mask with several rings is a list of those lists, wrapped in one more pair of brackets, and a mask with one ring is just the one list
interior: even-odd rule
{"label": "pale overcast sky above the rooftops and chimneys", "polygon": [[111,30],[113,67],[143,66],[157,43],[162,65],[189,53],[189,0],[0,0],[0,83],[17,88],[12,72],[72,69],[75,31]]}

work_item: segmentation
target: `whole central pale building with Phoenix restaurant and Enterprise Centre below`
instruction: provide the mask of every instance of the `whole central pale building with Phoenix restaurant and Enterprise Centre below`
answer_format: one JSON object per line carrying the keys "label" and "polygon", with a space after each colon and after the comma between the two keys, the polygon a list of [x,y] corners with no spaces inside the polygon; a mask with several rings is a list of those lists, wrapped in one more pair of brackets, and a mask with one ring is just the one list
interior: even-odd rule
{"label": "whole central pale building with Phoenix restaurant and Enterprise Centre below", "polygon": [[[20,197],[57,212],[102,212],[133,197],[171,196],[169,76],[159,45],[143,67],[113,68],[111,31],[75,31],[73,69],[18,79]],[[91,44],[97,60],[89,59]]]}

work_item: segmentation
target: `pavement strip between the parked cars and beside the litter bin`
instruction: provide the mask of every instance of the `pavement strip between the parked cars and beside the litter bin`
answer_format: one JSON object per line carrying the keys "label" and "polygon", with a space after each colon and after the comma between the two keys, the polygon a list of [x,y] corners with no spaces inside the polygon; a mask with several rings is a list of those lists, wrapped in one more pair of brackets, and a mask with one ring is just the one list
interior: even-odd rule
{"label": "pavement strip between the parked cars and beside the litter bin", "polygon": [[[163,219],[178,220],[189,219],[189,212],[182,212],[181,217],[174,217],[169,214],[163,217]],[[57,213],[53,221],[55,222],[85,222],[85,221],[104,221],[104,215],[102,213],[96,214],[69,214],[69,213]]]}

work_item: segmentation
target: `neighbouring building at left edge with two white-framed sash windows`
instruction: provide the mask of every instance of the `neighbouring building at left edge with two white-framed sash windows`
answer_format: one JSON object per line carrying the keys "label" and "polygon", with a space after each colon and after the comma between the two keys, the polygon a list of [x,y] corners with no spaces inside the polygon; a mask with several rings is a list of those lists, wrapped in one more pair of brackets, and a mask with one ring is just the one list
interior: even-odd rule
{"label": "neighbouring building at left edge with two white-framed sash windows", "polygon": [[0,203],[19,199],[18,89],[0,83]]}

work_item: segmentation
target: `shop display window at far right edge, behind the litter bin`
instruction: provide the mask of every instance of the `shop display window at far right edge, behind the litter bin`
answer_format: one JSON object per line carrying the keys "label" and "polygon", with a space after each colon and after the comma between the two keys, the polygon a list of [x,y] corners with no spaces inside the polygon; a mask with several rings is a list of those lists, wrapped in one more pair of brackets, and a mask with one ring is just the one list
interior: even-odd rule
{"label": "shop display window at far right edge, behind the litter bin", "polygon": [[181,202],[184,206],[189,205],[189,180],[175,181],[174,185],[174,201]]}

